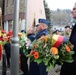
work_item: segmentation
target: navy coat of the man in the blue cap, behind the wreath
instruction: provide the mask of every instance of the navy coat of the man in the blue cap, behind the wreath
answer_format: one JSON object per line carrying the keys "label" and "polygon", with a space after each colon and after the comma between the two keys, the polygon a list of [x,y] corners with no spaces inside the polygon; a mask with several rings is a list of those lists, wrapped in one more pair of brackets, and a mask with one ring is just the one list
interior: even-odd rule
{"label": "navy coat of the man in the blue cap, behind the wreath", "polygon": [[[44,29],[40,32],[38,32],[36,34],[36,37],[35,39],[39,39],[42,35],[47,35],[48,34],[48,31],[47,29]],[[29,75],[47,75],[47,72],[46,72],[46,66],[44,65],[44,63],[41,63],[41,64],[37,64],[36,62],[31,62],[30,63],[30,71],[29,71]]]}

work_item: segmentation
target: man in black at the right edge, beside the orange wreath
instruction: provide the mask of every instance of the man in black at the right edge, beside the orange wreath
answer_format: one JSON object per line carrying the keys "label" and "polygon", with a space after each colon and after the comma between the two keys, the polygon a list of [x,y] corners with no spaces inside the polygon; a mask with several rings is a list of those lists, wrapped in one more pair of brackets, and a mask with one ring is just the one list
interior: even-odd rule
{"label": "man in black at the right edge, beside the orange wreath", "polygon": [[[76,19],[76,3],[72,10],[73,18]],[[74,62],[72,63],[64,63],[61,67],[60,75],[76,75],[76,23],[72,29],[72,33],[70,36],[70,42],[74,45],[73,50],[75,54],[73,55]]]}

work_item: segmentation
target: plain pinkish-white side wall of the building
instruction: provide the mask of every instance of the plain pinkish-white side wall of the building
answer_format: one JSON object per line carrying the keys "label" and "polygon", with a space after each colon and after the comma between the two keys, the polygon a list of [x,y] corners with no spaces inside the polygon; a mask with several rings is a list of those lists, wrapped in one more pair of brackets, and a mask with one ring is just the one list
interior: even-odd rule
{"label": "plain pinkish-white side wall of the building", "polygon": [[27,0],[26,17],[26,29],[32,27],[34,17],[36,24],[39,18],[46,18],[43,0]]}

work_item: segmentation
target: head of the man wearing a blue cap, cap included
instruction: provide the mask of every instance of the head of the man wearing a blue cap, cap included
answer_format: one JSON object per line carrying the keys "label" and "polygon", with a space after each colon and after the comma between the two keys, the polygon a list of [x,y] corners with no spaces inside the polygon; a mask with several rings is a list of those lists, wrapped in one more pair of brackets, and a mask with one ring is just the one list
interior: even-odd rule
{"label": "head of the man wearing a blue cap, cap included", "polygon": [[36,31],[41,31],[48,28],[50,22],[46,19],[39,19],[39,24],[36,25]]}

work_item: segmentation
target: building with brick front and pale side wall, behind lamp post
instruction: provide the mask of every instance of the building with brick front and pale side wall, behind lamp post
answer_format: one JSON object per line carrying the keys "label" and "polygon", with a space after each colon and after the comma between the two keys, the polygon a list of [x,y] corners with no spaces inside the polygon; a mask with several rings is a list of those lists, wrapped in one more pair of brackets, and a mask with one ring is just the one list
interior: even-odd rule
{"label": "building with brick front and pale side wall, behind lamp post", "polygon": [[[13,26],[14,0],[0,0],[2,8],[3,28],[8,32]],[[38,23],[39,18],[45,18],[43,0],[20,0],[19,31],[28,29]]]}

